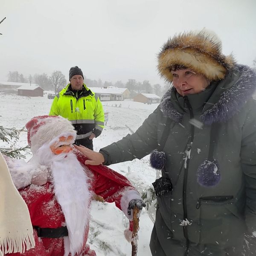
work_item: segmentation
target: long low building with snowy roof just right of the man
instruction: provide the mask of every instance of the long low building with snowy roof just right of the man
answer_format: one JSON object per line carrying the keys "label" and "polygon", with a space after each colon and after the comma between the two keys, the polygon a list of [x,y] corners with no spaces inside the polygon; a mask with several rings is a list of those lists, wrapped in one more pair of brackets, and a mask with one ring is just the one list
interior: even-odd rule
{"label": "long low building with snowy roof just right of the man", "polygon": [[130,91],[127,88],[117,87],[90,87],[100,101],[124,100],[130,97]]}

